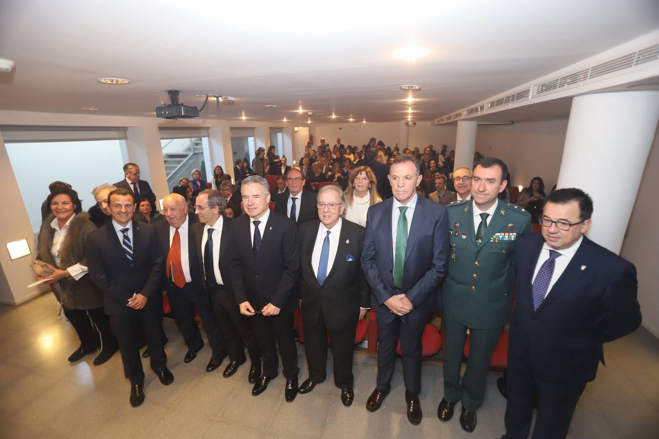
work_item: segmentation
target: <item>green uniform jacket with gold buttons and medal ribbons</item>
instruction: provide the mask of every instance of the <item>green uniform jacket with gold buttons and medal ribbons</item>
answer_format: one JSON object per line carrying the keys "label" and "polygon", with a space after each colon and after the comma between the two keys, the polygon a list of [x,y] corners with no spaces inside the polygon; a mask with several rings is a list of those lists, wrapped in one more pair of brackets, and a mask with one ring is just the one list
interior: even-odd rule
{"label": "green uniform jacket with gold buttons and medal ribbons", "polygon": [[498,200],[485,238],[476,242],[473,200],[454,201],[449,213],[451,255],[442,297],[444,315],[474,329],[503,326],[515,284],[515,239],[532,232],[531,216]]}

